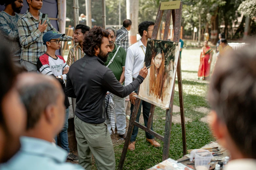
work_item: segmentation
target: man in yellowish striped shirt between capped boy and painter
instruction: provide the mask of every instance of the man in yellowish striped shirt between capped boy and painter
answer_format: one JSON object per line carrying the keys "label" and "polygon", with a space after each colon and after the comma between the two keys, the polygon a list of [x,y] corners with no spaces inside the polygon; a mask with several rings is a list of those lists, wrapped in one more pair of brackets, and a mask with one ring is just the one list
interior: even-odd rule
{"label": "man in yellowish striped shirt between capped boy and painter", "polygon": [[74,40],[75,40],[75,43],[78,43],[78,45],[71,48],[68,52],[67,64],[69,66],[71,66],[73,63],[75,63],[77,60],[79,60],[84,56],[83,40],[84,40],[84,34],[87,31],[90,31],[90,27],[88,27],[87,25],[78,24],[76,26]]}

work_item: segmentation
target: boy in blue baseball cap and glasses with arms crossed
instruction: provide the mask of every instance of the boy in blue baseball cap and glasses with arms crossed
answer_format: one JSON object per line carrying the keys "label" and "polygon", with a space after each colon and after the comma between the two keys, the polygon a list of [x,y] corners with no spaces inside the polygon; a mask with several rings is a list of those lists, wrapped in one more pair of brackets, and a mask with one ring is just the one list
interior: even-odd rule
{"label": "boy in blue baseball cap and glasses with arms crossed", "polygon": [[[48,31],[43,35],[43,44],[46,45],[47,50],[46,52],[38,58],[37,61],[37,71],[49,76],[56,77],[64,91],[66,92],[66,74],[69,71],[69,66],[66,64],[65,60],[62,56],[55,55],[56,50],[60,50],[61,41],[60,37],[64,36],[65,34],[58,34],[57,32]],[[63,149],[65,149],[69,153],[68,148],[68,116],[69,116],[69,100],[67,95],[65,94],[65,106],[66,106],[66,117],[65,117],[65,124],[60,132],[60,145]],[[57,136],[55,138],[57,144]],[[69,153],[68,159],[78,162],[78,156]]]}

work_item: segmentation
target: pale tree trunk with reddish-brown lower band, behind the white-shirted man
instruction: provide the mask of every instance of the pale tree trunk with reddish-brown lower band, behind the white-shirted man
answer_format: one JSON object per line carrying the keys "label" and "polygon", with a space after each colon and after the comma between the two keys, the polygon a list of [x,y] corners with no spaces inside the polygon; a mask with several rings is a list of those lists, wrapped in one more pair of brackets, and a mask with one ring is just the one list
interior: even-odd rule
{"label": "pale tree trunk with reddish-brown lower band, behind the white-shirted man", "polygon": [[137,0],[126,0],[126,16],[130,19],[131,31],[129,32],[130,45],[137,42],[139,4]]}

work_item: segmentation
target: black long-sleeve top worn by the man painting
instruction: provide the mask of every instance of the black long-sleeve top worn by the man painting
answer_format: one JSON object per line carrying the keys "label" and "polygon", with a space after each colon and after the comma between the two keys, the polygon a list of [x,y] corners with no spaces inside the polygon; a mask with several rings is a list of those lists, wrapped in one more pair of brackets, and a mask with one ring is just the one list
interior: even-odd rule
{"label": "black long-sleeve top worn by the man painting", "polygon": [[139,87],[144,78],[138,76],[124,87],[113,72],[97,56],[85,55],[71,65],[67,74],[66,94],[77,98],[75,115],[84,122],[99,124],[105,121],[107,91],[126,97]]}

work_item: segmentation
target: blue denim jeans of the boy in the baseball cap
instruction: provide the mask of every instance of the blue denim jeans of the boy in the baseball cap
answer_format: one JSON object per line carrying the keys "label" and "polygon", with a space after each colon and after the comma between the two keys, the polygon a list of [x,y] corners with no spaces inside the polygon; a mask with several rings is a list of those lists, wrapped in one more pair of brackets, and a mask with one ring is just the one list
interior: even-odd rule
{"label": "blue denim jeans of the boy in the baseball cap", "polygon": [[[65,149],[69,153],[68,148],[68,116],[69,116],[69,108],[66,109],[65,122],[64,127],[61,130],[60,136],[60,146]],[[56,145],[57,145],[57,136],[55,137]]]}

